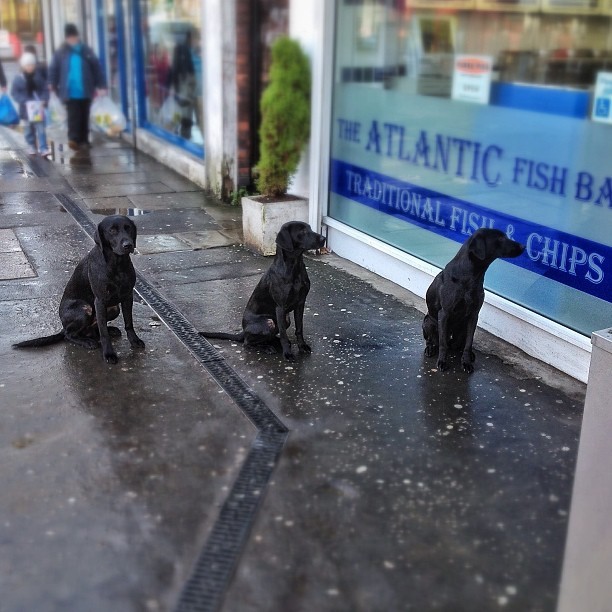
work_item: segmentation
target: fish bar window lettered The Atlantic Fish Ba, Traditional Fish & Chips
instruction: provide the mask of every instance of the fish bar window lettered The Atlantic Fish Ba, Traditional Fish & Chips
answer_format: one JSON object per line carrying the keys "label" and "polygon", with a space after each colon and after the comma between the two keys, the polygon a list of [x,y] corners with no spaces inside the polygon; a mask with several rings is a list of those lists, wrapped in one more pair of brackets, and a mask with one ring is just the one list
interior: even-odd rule
{"label": "fish bar window lettered The Atlantic Fish Ba, Traditional Fish & Chips", "polygon": [[612,321],[612,11],[599,0],[337,0],[328,215],[443,267],[527,245],[486,287]]}

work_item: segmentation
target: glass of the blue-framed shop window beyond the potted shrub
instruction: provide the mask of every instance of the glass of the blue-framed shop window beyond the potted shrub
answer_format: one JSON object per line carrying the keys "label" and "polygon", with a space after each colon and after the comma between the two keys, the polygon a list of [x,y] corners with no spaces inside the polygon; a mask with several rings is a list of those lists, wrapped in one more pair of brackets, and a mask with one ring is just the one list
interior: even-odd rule
{"label": "glass of the blue-framed shop window beyond the potted shrub", "polygon": [[201,147],[202,54],[200,0],[142,0],[147,121]]}

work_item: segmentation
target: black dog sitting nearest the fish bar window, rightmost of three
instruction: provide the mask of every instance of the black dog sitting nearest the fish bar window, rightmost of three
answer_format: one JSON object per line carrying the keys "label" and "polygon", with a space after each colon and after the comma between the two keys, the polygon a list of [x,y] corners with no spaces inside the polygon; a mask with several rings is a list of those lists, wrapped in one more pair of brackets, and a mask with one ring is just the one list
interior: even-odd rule
{"label": "black dog sitting nearest the fish bar window, rightmost of three", "polygon": [[472,350],[478,313],[484,302],[484,275],[498,257],[518,257],[525,247],[503,232],[479,229],[434,278],[427,289],[427,314],[423,320],[425,355],[438,353],[438,369],[447,369],[449,346],[462,350],[461,365],[473,372]]}

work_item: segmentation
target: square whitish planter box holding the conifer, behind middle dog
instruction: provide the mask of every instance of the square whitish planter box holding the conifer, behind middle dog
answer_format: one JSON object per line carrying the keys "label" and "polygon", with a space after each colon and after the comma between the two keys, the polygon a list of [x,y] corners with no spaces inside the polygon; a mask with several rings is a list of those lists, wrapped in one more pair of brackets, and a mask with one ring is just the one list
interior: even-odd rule
{"label": "square whitish planter box holding the conifer, behind middle dog", "polygon": [[289,221],[308,223],[308,200],[286,195],[279,199],[266,196],[242,198],[244,244],[262,255],[276,254],[276,234]]}

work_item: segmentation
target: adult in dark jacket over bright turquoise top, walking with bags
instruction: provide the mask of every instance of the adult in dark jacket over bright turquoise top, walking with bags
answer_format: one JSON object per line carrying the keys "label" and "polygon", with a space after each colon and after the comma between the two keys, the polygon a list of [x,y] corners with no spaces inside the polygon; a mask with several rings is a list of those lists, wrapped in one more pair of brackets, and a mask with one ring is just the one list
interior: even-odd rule
{"label": "adult in dark jacket over bright turquoise top, walking with bags", "polygon": [[96,95],[106,95],[106,77],[93,50],[81,42],[73,23],[64,28],[64,44],[49,66],[49,88],[66,105],[68,146],[89,147],[89,110]]}

